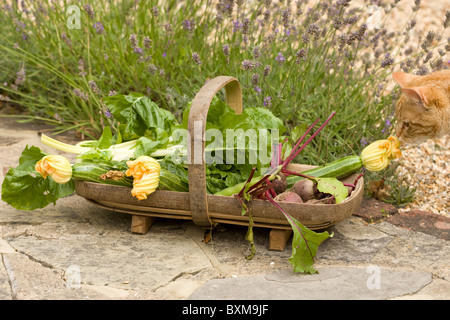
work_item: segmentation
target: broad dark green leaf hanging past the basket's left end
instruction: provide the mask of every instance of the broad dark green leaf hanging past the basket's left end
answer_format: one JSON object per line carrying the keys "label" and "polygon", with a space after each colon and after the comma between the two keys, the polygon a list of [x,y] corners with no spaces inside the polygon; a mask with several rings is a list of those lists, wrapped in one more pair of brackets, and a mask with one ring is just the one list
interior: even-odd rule
{"label": "broad dark green leaf hanging past the basket's left end", "polygon": [[58,184],[44,179],[34,167],[46,154],[37,147],[26,146],[16,168],[10,168],[2,183],[2,200],[18,210],[34,210],[55,204],[59,198],[73,194],[75,183],[71,179]]}

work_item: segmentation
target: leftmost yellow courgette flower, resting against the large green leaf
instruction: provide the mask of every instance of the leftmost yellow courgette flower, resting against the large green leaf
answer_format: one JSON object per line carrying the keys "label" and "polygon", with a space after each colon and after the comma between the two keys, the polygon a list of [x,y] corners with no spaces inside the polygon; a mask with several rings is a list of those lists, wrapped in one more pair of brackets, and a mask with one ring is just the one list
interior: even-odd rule
{"label": "leftmost yellow courgette flower, resting against the large green leaf", "polygon": [[72,166],[69,160],[60,155],[44,156],[34,168],[44,179],[50,176],[56,183],[63,184],[72,178]]}

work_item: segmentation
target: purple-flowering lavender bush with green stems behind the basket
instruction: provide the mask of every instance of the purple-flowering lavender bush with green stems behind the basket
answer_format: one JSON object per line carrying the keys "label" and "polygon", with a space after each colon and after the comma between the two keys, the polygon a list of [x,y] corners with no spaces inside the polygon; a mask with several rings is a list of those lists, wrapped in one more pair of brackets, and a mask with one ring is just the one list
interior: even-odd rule
{"label": "purple-flowering lavender bush with green stems behind the basket", "polygon": [[[56,130],[98,137],[114,122],[103,97],[141,92],[181,115],[208,79],[230,75],[242,84],[245,108],[265,106],[290,130],[337,111],[298,159],[322,164],[392,132],[394,69],[425,74],[449,60],[450,13],[442,33],[415,30],[415,1],[405,27],[392,30],[386,21],[399,1],[363,2],[7,2],[0,98]],[[367,22],[369,5],[386,13],[378,28]],[[413,31],[423,32],[419,43]]]}

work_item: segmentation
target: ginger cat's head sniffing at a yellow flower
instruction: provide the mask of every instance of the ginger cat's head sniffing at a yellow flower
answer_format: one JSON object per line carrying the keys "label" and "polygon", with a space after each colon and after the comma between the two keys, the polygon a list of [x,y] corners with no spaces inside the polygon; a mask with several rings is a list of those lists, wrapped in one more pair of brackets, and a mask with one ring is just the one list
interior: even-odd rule
{"label": "ginger cat's head sniffing at a yellow flower", "polygon": [[392,76],[403,93],[395,109],[400,141],[418,144],[450,134],[450,70]]}

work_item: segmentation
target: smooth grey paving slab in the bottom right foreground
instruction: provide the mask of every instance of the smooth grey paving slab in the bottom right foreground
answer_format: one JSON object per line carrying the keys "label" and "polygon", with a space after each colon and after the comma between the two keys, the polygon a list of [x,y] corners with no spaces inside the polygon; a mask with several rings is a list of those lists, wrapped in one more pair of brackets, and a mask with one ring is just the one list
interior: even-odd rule
{"label": "smooth grey paving slab in the bottom right foreground", "polygon": [[318,274],[289,271],[213,279],[195,291],[192,300],[368,300],[393,299],[431,283],[431,274],[369,266],[323,268]]}

